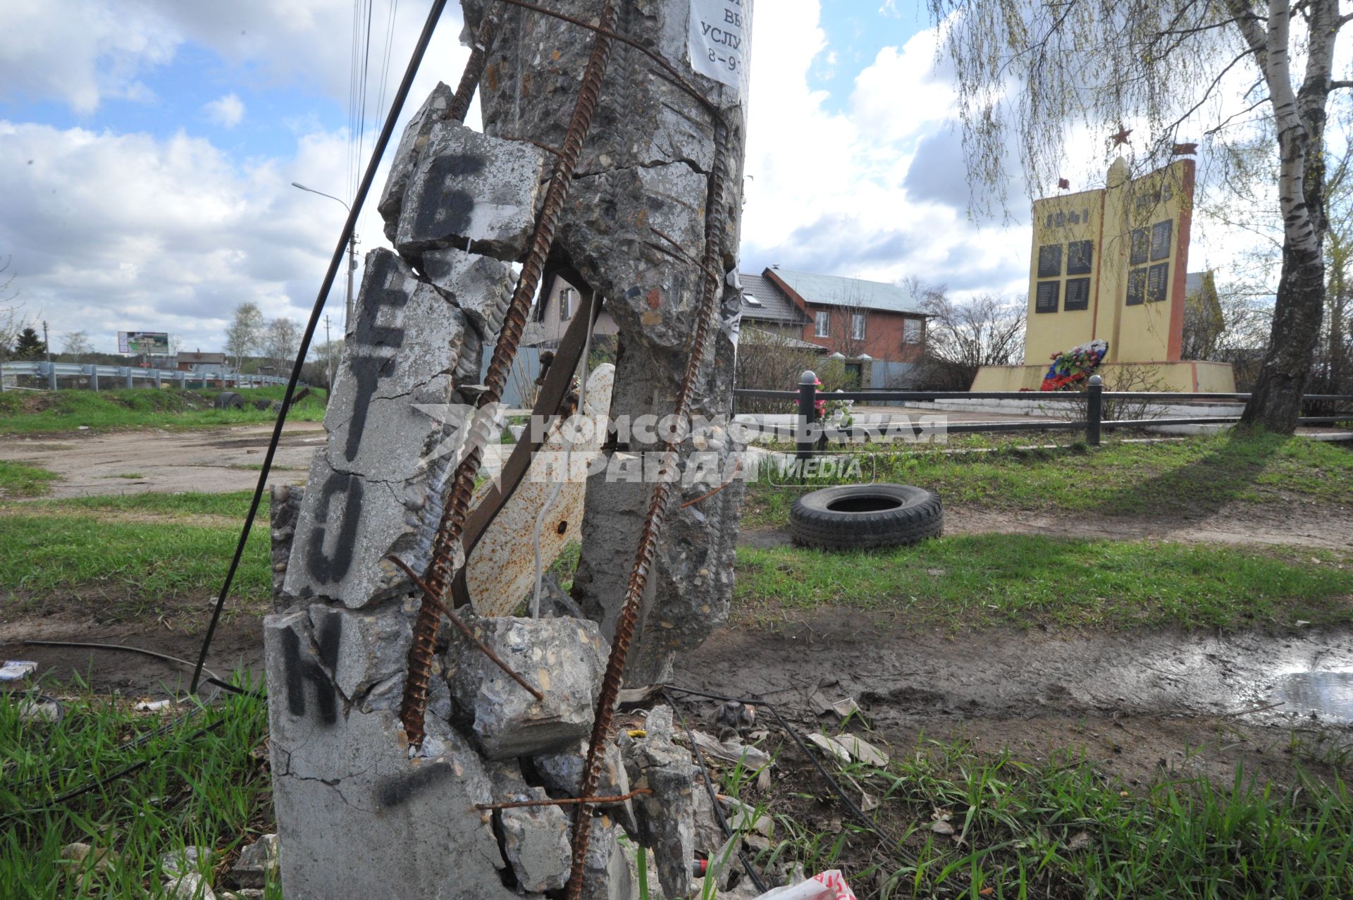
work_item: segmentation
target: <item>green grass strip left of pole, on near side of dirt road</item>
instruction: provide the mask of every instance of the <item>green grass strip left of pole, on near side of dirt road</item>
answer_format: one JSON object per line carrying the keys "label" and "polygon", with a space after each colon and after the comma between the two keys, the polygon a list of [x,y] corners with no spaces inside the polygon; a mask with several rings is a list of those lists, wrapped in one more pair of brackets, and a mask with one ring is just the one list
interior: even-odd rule
{"label": "green grass strip left of pole, on near side of dirt road", "polygon": [[[41,514],[28,505],[3,509],[0,591],[30,598],[97,597],[130,617],[166,600],[219,587],[249,494],[135,494],[38,503]],[[207,516],[229,521],[195,518]],[[267,522],[252,531],[245,554],[231,595],[244,601],[271,597]]]}

